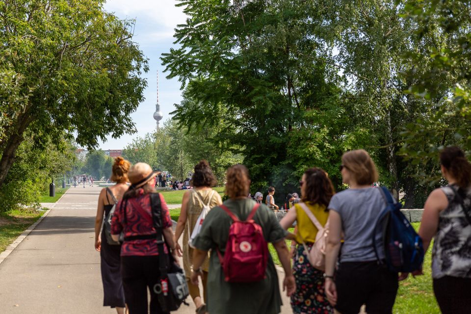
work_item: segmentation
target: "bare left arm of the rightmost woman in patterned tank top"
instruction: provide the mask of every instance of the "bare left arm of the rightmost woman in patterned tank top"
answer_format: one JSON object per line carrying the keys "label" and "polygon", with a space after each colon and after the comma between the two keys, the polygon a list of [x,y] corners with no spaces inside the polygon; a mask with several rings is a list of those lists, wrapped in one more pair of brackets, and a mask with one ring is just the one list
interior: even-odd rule
{"label": "bare left arm of the rightmost woman in patterned tank top", "polygon": [[441,189],[433,190],[423,207],[419,235],[423,241],[423,251],[427,252],[430,241],[437,233],[440,211],[448,207],[448,199]]}

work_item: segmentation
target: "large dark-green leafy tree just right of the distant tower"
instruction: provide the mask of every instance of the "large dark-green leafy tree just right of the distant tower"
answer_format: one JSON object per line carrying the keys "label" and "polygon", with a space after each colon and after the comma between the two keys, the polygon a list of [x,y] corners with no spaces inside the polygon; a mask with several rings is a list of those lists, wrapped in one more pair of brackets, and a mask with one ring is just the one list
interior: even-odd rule
{"label": "large dark-green leafy tree just right of the distant tower", "polygon": [[175,120],[190,130],[214,128],[221,143],[239,147],[254,189],[292,191],[299,178],[291,175],[291,132],[327,99],[340,105],[332,47],[318,36],[319,8],[282,0],[181,4],[189,18],[175,33],[180,47],[162,57],[192,100],[177,105]]}

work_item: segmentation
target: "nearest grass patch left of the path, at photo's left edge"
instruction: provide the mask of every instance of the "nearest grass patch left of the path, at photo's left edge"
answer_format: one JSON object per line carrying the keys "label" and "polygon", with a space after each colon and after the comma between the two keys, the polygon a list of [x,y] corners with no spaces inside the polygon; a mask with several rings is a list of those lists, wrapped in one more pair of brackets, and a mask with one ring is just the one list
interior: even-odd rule
{"label": "nearest grass patch left of the path, at photo's left edge", "polygon": [[44,211],[35,209],[12,210],[0,214],[0,252],[31,226]]}

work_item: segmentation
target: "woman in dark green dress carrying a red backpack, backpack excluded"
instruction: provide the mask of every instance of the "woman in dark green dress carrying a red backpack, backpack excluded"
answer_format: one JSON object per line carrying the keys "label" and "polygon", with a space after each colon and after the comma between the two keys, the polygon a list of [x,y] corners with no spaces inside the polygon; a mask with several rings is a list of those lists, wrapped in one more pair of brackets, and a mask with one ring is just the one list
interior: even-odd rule
{"label": "woman in dark green dress carrying a red backpack, backpack excluded", "polygon": [[[291,274],[288,248],[285,243],[287,232],[281,228],[275,215],[256,202],[248,199],[250,179],[247,168],[235,165],[228,169],[226,180],[226,193],[229,199],[223,203],[238,219],[245,220],[255,209],[253,220],[262,227],[263,237],[267,242],[273,243],[285,269],[284,289],[287,295],[295,290],[294,277]],[[257,205],[258,206],[258,205]],[[211,250],[208,276],[207,311],[218,314],[277,314],[280,313],[281,296],[278,286],[278,276],[275,265],[268,254],[268,263],[265,268],[265,279],[251,283],[229,283],[225,281],[225,274],[218,257],[225,255],[226,242],[233,219],[220,206],[211,209],[206,217],[201,232],[193,240],[195,247],[191,280],[198,283],[201,275],[200,267]],[[241,250],[251,250],[249,243],[241,243]]]}

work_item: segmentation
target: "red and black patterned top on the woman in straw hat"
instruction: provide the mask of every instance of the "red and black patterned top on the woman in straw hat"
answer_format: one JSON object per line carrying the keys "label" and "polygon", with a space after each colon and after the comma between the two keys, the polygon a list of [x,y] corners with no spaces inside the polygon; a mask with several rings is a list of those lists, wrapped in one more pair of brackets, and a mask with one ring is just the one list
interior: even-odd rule
{"label": "red and black patterned top on the woman in straw hat", "polygon": [[[124,221],[124,204],[125,200],[120,200],[116,204],[116,210],[111,218],[111,234],[119,235],[124,230],[124,236],[133,235],[151,235],[156,233],[154,221],[152,219],[151,197],[144,194],[144,190],[140,189],[140,196],[128,199],[126,206],[126,220]],[[172,220],[168,212],[167,204],[160,196],[160,206],[162,209],[162,226],[163,228],[172,227]],[[121,204],[124,202],[123,207]],[[167,246],[164,245],[165,254],[168,254]],[[132,240],[125,241],[121,245],[121,256],[150,256],[158,255],[157,241],[155,239]]]}

